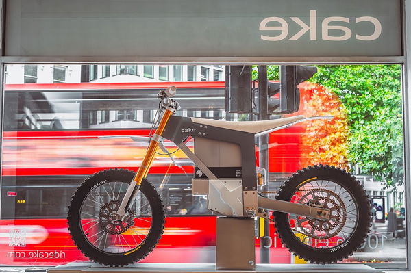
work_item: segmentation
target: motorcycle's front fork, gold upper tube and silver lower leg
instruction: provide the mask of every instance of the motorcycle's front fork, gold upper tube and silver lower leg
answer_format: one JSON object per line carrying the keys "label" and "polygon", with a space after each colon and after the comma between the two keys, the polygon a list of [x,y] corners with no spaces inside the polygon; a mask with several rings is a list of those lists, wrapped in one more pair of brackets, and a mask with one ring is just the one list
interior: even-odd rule
{"label": "motorcycle's front fork, gold upper tube and silver lower leg", "polygon": [[145,154],[145,157],[142,159],[141,166],[140,168],[138,168],[138,171],[134,176],[133,181],[127,188],[127,192],[125,192],[123,200],[121,200],[121,204],[116,215],[117,219],[123,220],[125,218],[125,212],[127,211],[130,203],[132,203],[132,200],[134,200],[134,198],[137,196],[138,189],[140,188],[140,185],[142,183],[142,179],[145,179],[145,177],[147,177],[147,174],[149,173],[151,164],[153,164],[153,160],[155,157],[155,151],[157,151],[158,144],[162,140],[162,133],[164,132],[166,124],[169,121],[170,116],[173,115],[173,113],[175,113],[175,109],[171,107],[166,107],[166,111],[162,116],[160,125],[158,125],[158,128],[155,131],[153,138],[151,139],[149,148],[147,148],[147,153]]}

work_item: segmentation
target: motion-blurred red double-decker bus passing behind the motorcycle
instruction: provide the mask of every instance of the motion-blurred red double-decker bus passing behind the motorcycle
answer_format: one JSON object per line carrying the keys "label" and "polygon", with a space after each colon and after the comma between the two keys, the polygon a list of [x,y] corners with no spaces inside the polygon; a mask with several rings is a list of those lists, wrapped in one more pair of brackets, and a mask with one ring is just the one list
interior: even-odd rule
{"label": "motion-blurred red double-decker bus passing behind the motorcycle", "polygon": [[[149,135],[158,107],[156,94],[171,85],[179,91],[179,115],[247,118],[225,113],[223,82],[5,85],[1,265],[86,260],[67,229],[71,195],[90,174],[138,168],[147,143],[125,136]],[[300,168],[301,131],[303,125],[271,133],[270,190]],[[123,138],[100,138],[108,135]],[[176,149],[169,142],[166,146]],[[168,217],[158,247],[143,262],[213,262],[216,216],[208,211],[206,198],[191,195],[192,162],[181,151],[173,158],[177,166],[168,156],[156,157],[148,177],[160,189]],[[271,236],[271,261],[289,263],[290,254],[273,227]]]}

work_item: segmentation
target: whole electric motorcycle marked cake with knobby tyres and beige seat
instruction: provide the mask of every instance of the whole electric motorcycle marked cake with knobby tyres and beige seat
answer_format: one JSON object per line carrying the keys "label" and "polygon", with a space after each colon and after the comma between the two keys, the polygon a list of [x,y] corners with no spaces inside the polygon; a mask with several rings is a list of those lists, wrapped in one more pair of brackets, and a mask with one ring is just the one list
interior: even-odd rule
{"label": "whole electric motorcycle marked cake with knobby tyres and beige seat", "polygon": [[[369,197],[351,174],[334,166],[308,166],[292,174],[275,198],[259,192],[266,171],[256,167],[256,136],[316,118],[233,122],[175,116],[176,88],[161,90],[162,113],[153,121],[147,153],[136,173],[111,169],[88,177],[73,194],[69,230],[86,257],[104,265],[140,261],[155,248],[164,229],[164,206],[147,180],[164,139],[195,164],[192,194],[207,196],[221,216],[269,219],[282,243],[313,263],[334,263],[359,248],[371,226]],[[133,138],[133,137],[132,137]],[[138,138],[138,137],[135,137]],[[186,145],[194,139],[194,151]]]}

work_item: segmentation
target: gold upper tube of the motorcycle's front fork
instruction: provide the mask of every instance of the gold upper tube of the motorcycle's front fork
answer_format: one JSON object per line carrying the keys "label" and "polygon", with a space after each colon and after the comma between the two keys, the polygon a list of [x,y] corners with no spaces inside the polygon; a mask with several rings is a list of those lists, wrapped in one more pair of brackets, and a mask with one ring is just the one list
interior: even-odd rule
{"label": "gold upper tube of the motorcycle's front fork", "polygon": [[[156,135],[162,136],[162,133],[164,132],[164,129],[166,128],[166,124],[169,121],[169,118],[172,114],[173,114],[173,111],[166,109],[160,121],[160,125],[158,125],[157,130],[155,130]],[[140,168],[138,168],[138,171],[133,179],[137,183],[137,185],[140,185],[142,182],[142,179],[145,179],[145,177],[147,177],[151,164],[153,164],[153,160],[154,160],[155,152],[157,151],[157,148],[158,148],[158,142],[155,140],[151,140],[149,148],[147,148],[147,153],[145,154],[145,157],[142,159],[141,166]]]}

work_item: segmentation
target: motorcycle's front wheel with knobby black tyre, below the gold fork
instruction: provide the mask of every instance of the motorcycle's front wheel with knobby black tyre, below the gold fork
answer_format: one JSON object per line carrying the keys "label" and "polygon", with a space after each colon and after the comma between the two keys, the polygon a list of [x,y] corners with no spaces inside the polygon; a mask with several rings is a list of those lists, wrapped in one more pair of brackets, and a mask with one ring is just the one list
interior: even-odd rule
{"label": "motorcycle's front wheel with knobby black tyre, below the gold fork", "polygon": [[146,257],[164,229],[164,206],[158,191],[144,179],[127,209],[127,220],[115,220],[134,172],[104,170],[88,177],[71,198],[68,224],[83,254],[97,263],[123,266]]}

